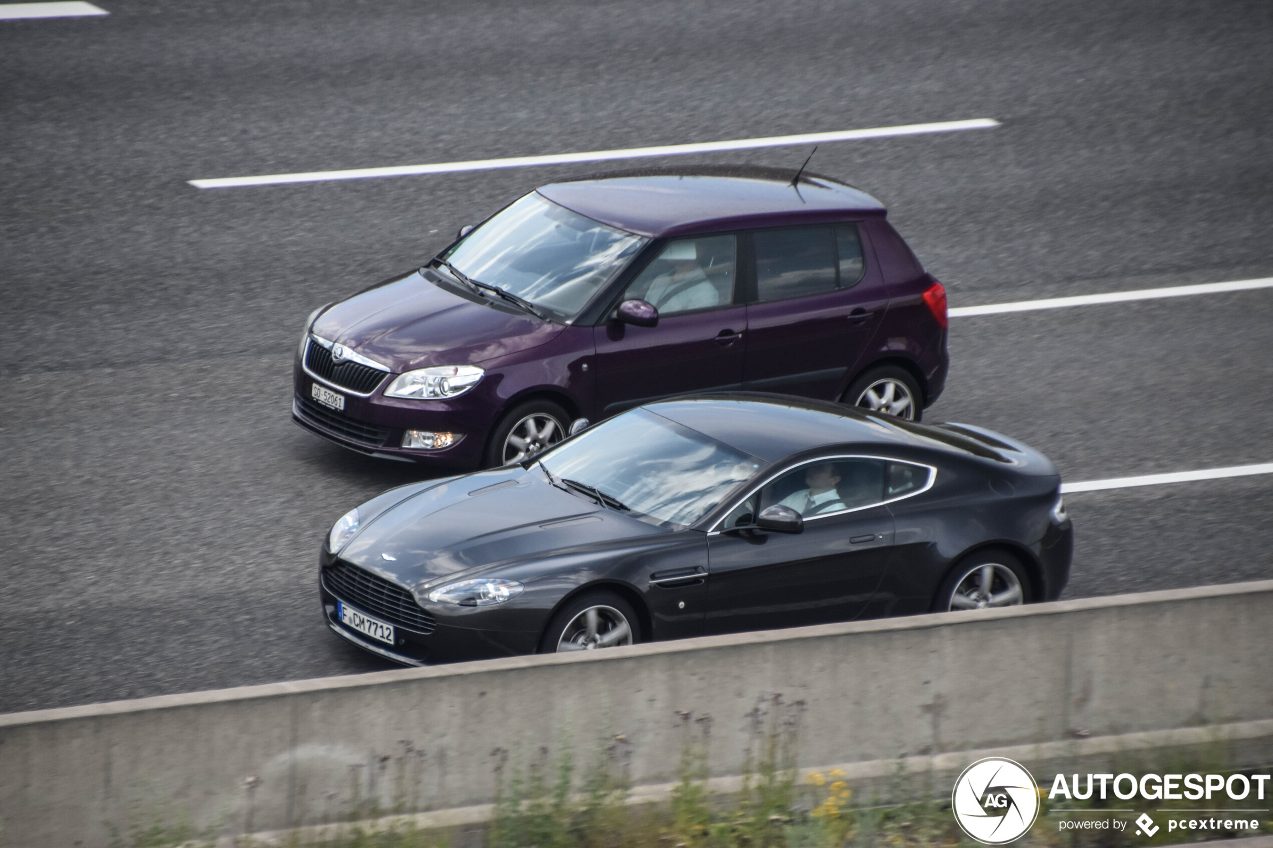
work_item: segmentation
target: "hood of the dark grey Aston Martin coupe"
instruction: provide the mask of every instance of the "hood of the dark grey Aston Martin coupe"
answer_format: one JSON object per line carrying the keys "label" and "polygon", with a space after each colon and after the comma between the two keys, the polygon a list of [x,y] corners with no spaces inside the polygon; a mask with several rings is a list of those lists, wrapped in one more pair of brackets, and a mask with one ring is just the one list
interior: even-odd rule
{"label": "hood of the dark grey Aston Martin coupe", "polygon": [[663,530],[563,492],[538,468],[437,486],[381,512],[340,558],[404,586]]}

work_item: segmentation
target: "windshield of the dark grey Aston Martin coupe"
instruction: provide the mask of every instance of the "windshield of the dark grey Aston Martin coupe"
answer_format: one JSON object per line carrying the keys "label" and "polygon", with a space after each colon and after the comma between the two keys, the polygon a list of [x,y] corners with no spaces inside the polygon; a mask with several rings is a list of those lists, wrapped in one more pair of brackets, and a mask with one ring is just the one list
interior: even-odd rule
{"label": "windshield of the dark grey Aston Martin coupe", "polygon": [[656,524],[687,526],[768,463],[645,409],[586,431],[544,456],[572,481]]}

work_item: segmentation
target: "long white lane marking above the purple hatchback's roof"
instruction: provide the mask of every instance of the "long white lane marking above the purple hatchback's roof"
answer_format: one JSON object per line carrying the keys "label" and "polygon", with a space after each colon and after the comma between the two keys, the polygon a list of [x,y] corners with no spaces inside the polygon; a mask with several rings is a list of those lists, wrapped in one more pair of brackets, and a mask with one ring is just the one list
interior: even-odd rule
{"label": "long white lane marking above the purple hatchback's roof", "polygon": [[530,168],[532,165],[569,165],[580,161],[608,161],[612,159],[642,159],[644,156],[680,156],[690,153],[721,153],[724,150],[754,150],[756,147],[783,147],[829,141],[854,141],[858,139],[883,139],[889,136],[914,136],[928,132],[956,132],[960,130],[987,130],[999,126],[990,118],[970,121],[942,121],[938,123],[909,123],[897,127],[869,130],[840,130],[836,132],[806,132],[798,136],[770,136],[768,139],[737,139],[735,141],[701,141],[672,144],[658,147],[628,147],[625,150],[589,150],[587,153],[555,153],[545,156],[513,156],[509,159],[474,159],[470,161],[442,161],[432,165],[397,165],[393,168],[355,168],[351,170],[314,170],[304,174],[269,174],[264,177],[222,177],[216,179],[191,179],[195,188],[238,188],[242,186],[278,186],[281,183],[317,183],[330,179],[368,179],[370,177],[409,177],[414,174],[452,174],[461,170],[490,170],[495,168]]}

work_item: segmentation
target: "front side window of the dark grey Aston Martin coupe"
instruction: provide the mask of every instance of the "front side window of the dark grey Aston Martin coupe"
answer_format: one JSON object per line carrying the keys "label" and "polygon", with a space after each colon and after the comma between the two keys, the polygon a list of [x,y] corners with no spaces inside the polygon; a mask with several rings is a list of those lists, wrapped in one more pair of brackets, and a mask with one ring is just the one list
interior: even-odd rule
{"label": "front side window of the dark grey Aston Martin coupe", "polygon": [[810,519],[883,500],[882,459],[827,459],[792,469],[761,488],[759,506],[782,503]]}

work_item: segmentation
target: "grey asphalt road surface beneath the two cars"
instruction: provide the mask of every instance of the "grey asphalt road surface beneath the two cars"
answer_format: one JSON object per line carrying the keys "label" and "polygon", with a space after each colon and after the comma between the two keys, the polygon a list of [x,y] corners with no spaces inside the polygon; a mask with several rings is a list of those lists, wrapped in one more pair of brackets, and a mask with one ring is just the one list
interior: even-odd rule
{"label": "grey asphalt road surface beneath the two cars", "polygon": [[[188,179],[995,118],[810,167],[952,305],[1273,276],[1265,0],[99,5],[0,22],[0,712],[384,667],[322,623],[316,556],[428,472],[289,421],[302,319],[625,163]],[[1273,462],[1270,327],[1273,290],[956,318],[928,418],[1069,481]],[[1073,495],[1067,595],[1270,577],[1270,496]]]}

